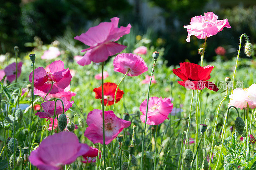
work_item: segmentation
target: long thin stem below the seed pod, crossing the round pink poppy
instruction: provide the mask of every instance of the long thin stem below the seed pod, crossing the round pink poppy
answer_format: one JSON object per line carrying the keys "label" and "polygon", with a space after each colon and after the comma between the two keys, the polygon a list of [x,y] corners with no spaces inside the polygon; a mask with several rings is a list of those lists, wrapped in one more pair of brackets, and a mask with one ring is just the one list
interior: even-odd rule
{"label": "long thin stem below the seed pod, crossing the round pink poppy", "polygon": [[152,81],[155,65],[156,65],[156,60],[154,60],[154,62],[153,62],[153,67],[152,67],[152,71],[151,71],[150,81],[149,81],[149,85],[148,85],[148,98],[147,98],[146,117],[145,117],[145,124],[144,124],[143,137],[142,137],[142,152],[141,152],[141,167],[140,167],[141,170],[143,169],[143,160],[144,160],[144,143],[145,143],[145,133],[146,133],[147,118],[148,118],[149,92],[150,92],[150,85],[151,85],[151,81]]}

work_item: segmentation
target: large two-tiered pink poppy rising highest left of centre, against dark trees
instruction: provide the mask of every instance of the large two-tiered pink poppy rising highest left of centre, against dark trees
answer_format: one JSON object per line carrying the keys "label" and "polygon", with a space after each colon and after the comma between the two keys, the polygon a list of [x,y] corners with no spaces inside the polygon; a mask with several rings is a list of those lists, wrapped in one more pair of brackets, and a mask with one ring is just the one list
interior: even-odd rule
{"label": "large two-tiered pink poppy rising highest left of centre, against dark trees", "polygon": [[94,63],[104,62],[108,59],[108,56],[120,53],[126,47],[113,41],[117,41],[123,35],[130,33],[132,26],[128,24],[126,27],[118,28],[119,18],[114,17],[110,20],[111,22],[101,22],[98,26],[91,27],[86,33],[74,38],[90,46],[90,48],[81,51],[87,52],[77,62],[79,65],[88,65],[92,61]]}

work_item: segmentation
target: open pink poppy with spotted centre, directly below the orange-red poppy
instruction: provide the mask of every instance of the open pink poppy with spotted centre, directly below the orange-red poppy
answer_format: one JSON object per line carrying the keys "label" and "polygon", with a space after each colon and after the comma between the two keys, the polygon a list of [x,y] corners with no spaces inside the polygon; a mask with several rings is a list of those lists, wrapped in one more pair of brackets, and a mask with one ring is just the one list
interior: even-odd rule
{"label": "open pink poppy with spotted centre, directly below the orange-red poppy", "polygon": [[[113,111],[105,111],[105,144],[109,144],[115,139],[118,134],[131,125],[131,122],[125,121],[117,117]],[[84,136],[87,137],[93,144],[103,144],[103,132],[102,132],[102,110],[94,109],[88,115],[86,119],[88,127],[84,132]]]}

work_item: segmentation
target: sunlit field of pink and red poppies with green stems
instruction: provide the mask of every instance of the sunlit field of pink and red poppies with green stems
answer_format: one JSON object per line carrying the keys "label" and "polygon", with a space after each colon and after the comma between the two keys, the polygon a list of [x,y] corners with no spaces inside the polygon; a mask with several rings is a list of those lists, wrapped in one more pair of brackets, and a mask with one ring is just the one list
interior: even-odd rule
{"label": "sunlit field of pink and red poppies with green stems", "polygon": [[180,29],[186,43],[202,41],[201,61],[168,66],[164,48],[119,19],[0,55],[0,170],[256,169],[256,46],[246,33],[233,59],[218,47],[207,62],[207,40],[232,25],[198,14]]}

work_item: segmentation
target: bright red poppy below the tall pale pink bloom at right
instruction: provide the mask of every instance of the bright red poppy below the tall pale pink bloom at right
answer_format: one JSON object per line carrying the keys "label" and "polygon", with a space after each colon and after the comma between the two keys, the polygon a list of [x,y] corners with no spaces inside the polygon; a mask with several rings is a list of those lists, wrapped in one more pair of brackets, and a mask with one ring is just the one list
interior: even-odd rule
{"label": "bright red poppy below the tall pale pink bloom at right", "polygon": [[206,81],[211,78],[210,73],[213,68],[211,65],[201,67],[194,63],[180,63],[180,69],[172,69],[172,71],[182,79],[178,83],[188,89],[202,90],[206,87],[217,92],[219,88],[214,83]]}

